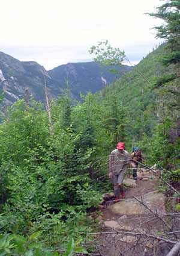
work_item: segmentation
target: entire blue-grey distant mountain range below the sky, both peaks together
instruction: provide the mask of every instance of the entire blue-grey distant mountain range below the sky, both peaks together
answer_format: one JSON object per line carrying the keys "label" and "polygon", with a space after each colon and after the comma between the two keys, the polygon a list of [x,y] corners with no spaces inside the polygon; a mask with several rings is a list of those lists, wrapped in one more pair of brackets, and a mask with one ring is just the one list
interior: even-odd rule
{"label": "entire blue-grey distant mountain range below the sky, both peaks together", "polygon": [[[122,67],[119,76],[129,70],[128,66]],[[76,99],[79,99],[80,92],[97,92],[116,78],[95,62],[68,63],[47,71],[35,61],[19,61],[0,52],[0,89],[5,92],[3,104],[12,104],[23,98],[25,87],[35,100],[44,102],[44,76],[50,98],[55,98],[68,86],[72,98]]]}

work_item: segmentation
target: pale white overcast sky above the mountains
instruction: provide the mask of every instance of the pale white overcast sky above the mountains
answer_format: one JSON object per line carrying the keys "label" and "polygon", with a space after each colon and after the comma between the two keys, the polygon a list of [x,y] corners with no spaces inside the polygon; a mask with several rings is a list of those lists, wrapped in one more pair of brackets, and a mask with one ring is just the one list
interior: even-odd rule
{"label": "pale white overcast sky above the mountains", "polygon": [[109,40],[132,63],[160,42],[145,13],[160,0],[0,0],[0,51],[47,70],[68,62],[92,61],[88,50]]}

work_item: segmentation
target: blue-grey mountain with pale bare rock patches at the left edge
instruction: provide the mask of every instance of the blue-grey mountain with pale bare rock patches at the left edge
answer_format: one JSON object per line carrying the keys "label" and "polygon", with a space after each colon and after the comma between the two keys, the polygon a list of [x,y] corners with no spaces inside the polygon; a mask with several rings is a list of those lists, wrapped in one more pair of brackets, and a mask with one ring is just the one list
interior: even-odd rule
{"label": "blue-grey mountain with pale bare rock patches at the left edge", "polygon": [[[52,81],[43,66],[35,61],[19,61],[0,52],[0,88],[5,92],[4,104],[12,104],[23,98],[25,87],[37,101],[44,101],[44,75],[46,76],[50,96],[55,95],[58,84]],[[53,89],[51,89],[51,87]],[[58,88],[57,93],[62,92]]]}

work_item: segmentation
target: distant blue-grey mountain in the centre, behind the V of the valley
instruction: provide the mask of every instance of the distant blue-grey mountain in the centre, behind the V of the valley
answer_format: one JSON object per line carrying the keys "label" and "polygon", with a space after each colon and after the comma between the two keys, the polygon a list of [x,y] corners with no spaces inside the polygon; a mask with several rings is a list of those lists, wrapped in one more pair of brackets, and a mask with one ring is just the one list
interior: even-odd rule
{"label": "distant blue-grey mountain in the centre, behind the V of the valley", "polygon": [[71,88],[74,95],[79,95],[79,92],[86,94],[102,89],[103,86],[112,83],[119,78],[131,67],[123,66],[118,68],[119,74],[115,75],[109,72],[109,67],[101,67],[95,62],[87,63],[68,63],[66,65],[55,67],[49,70],[49,75],[61,84],[67,84]]}

